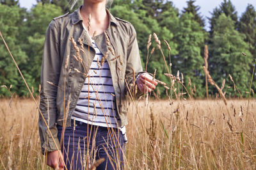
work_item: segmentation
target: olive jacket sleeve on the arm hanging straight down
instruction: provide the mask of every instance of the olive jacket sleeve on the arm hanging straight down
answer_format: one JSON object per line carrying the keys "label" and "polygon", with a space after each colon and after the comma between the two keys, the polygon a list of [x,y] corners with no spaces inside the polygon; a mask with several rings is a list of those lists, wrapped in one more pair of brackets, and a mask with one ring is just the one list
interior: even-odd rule
{"label": "olive jacket sleeve on the arm hanging straight down", "polygon": [[[59,76],[60,76],[60,52],[58,31],[54,20],[49,24],[44,42],[44,52],[42,56],[41,70],[41,91],[39,109],[42,115],[39,114],[38,128],[42,146],[42,153],[46,151],[54,151],[60,149],[58,141],[58,130],[56,128],[56,97]],[[50,83],[49,83],[50,82]],[[52,85],[54,84],[54,85]],[[51,137],[47,125],[51,131]],[[54,143],[55,141],[55,143]]]}

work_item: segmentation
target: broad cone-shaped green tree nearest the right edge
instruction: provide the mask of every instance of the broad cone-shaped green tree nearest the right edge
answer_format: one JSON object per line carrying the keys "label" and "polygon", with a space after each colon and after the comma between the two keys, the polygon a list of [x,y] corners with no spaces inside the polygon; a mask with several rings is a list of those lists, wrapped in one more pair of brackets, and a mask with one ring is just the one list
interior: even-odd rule
{"label": "broad cone-shaped green tree nearest the right edge", "polygon": [[[214,81],[221,86],[226,79],[226,86],[232,86],[228,74],[232,75],[237,88],[243,95],[250,85],[250,64],[252,56],[244,36],[234,29],[235,22],[224,13],[216,20],[212,44],[209,45],[209,70]],[[241,55],[245,52],[247,56]],[[232,88],[225,88],[227,93],[234,96]]]}

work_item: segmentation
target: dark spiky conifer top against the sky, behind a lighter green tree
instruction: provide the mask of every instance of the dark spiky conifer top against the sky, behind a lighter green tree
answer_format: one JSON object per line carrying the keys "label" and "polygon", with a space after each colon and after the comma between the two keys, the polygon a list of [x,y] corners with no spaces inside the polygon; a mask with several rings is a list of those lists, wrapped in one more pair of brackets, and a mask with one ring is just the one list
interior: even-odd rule
{"label": "dark spiky conifer top against the sky, behind a lighter green tree", "polygon": [[198,12],[200,10],[200,6],[196,6],[195,0],[189,0],[187,1],[188,7],[184,8],[182,13],[192,13],[193,15],[193,20],[198,22],[200,26],[204,27],[205,26],[205,20],[200,16],[200,13]]}

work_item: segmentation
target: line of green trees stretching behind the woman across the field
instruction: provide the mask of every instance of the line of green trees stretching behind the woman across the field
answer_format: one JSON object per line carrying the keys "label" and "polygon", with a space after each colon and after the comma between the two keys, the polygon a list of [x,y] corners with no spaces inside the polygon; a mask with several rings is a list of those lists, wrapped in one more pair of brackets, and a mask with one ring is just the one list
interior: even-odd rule
{"label": "line of green trees stretching behind the woman across the field", "polygon": [[[17,0],[0,2],[0,31],[29,86],[38,93],[47,26],[54,17],[76,10],[81,2],[73,7],[72,1],[67,0],[37,0],[31,10],[21,8]],[[164,75],[167,73],[164,59],[153,40],[149,50],[152,47],[156,49],[147,58],[148,35],[152,33],[156,33],[162,42],[163,54],[170,66],[170,72],[173,75],[178,71],[182,73],[184,86],[193,97],[206,96],[203,70],[205,45],[209,49],[208,69],[212,79],[219,86],[225,79],[224,91],[230,97],[236,97],[234,89],[238,89],[246,97],[256,57],[255,8],[248,4],[246,11],[238,16],[231,1],[223,0],[212,10],[211,17],[207,18],[209,30],[205,29],[207,21],[199,10],[200,6],[195,5],[195,0],[187,1],[187,6],[181,12],[172,1],[164,0],[115,0],[110,8],[114,16],[131,22],[135,27],[143,67],[150,73],[154,73],[157,68],[156,79],[170,82]],[[169,43],[171,50],[164,46],[163,40]],[[256,89],[255,78],[254,74],[253,91]],[[1,41],[0,85],[10,87],[11,84],[12,93],[28,96],[28,90]],[[158,88],[159,95],[164,97],[164,88]],[[0,96],[9,96],[10,91],[2,87]],[[209,93],[215,95],[216,89],[209,86]]]}

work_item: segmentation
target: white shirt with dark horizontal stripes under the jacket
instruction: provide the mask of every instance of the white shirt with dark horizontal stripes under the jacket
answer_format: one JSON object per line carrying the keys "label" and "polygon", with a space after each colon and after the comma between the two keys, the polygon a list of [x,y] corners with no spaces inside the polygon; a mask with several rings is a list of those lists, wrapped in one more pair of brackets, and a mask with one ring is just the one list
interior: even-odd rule
{"label": "white shirt with dark horizontal stripes under the jacket", "polygon": [[[92,38],[90,40],[96,54],[79,95],[72,119],[90,125],[117,128],[117,120],[120,118],[116,115],[115,91],[110,68],[106,60],[102,66],[100,65],[103,58],[102,52],[94,40]],[[124,136],[124,142],[127,143],[125,127],[120,128],[120,131]]]}

